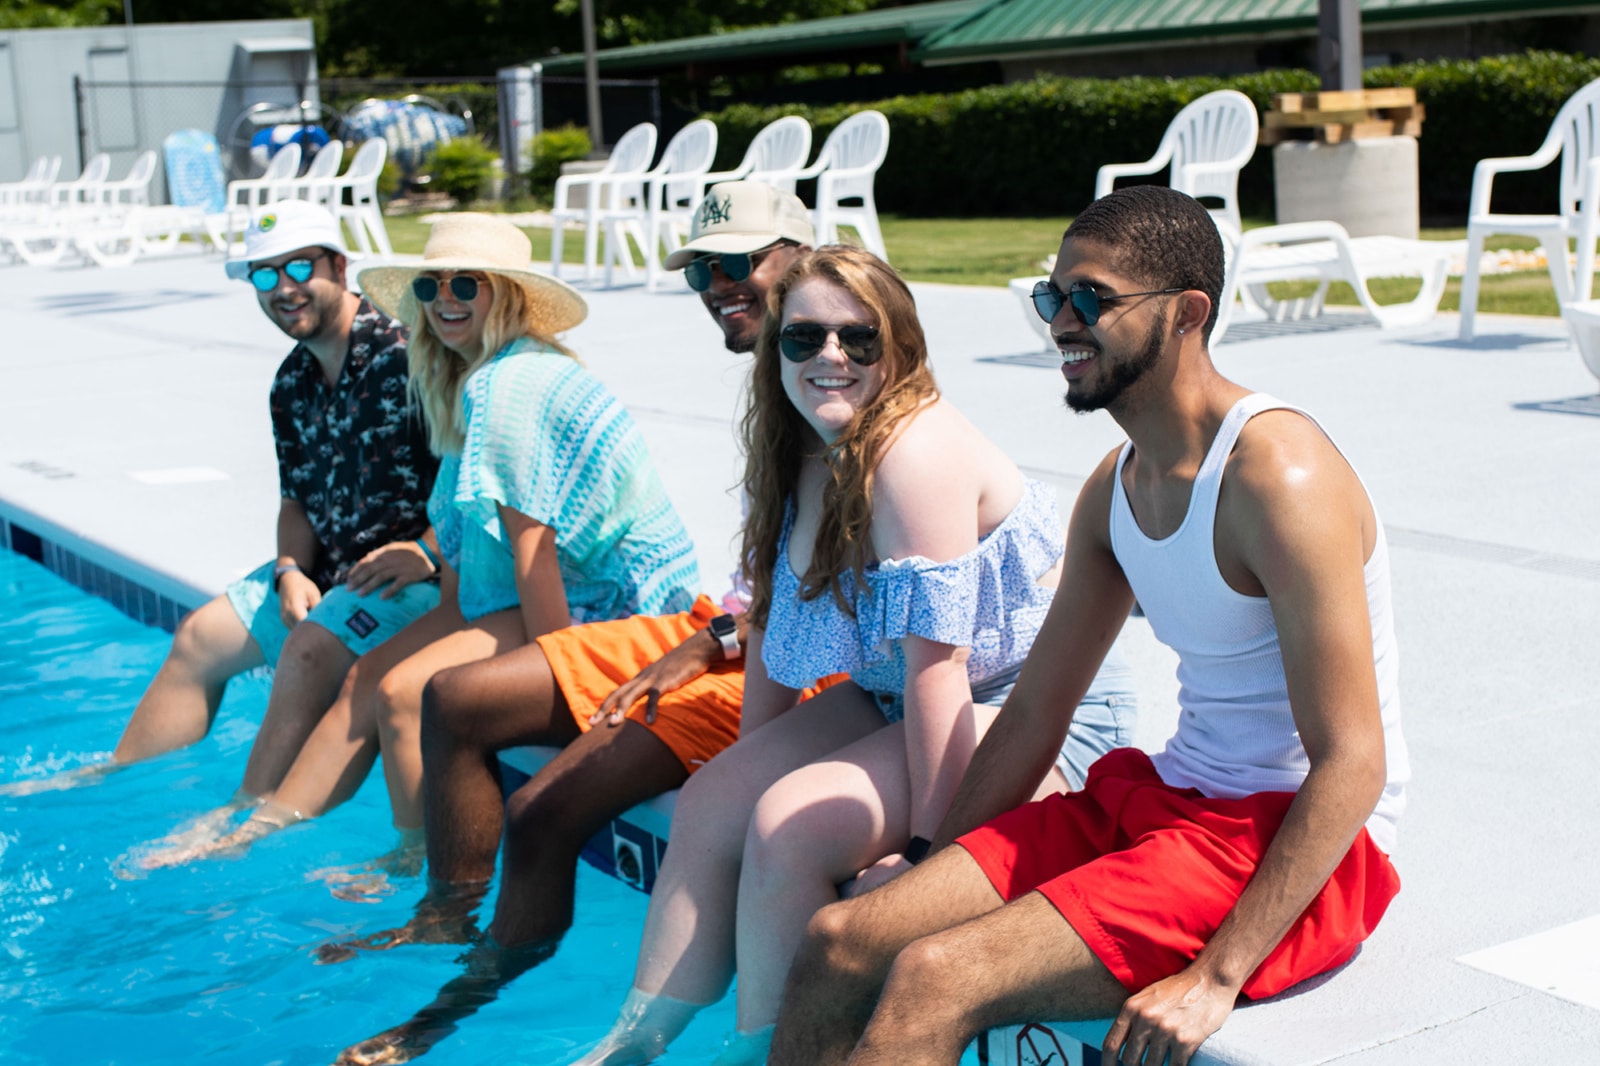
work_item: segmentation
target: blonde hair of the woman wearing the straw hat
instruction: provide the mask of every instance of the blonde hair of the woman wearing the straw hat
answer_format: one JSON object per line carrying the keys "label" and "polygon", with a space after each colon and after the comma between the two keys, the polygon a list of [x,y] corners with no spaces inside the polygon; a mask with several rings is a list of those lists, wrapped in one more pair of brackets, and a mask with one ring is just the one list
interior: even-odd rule
{"label": "blonde hair of the woman wearing the straw hat", "polygon": [[534,328],[533,304],[526,290],[515,279],[493,271],[470,271],[470,274],[483,274],[494,295],[488,319],[483,320],[483,347],[477,359],[469,360],[454,349],[445,347],[445,343],[434,333],[434,327],[427,323],[422,304],[413,303],[418,320],[406,323],[411,328],[411,339],[406,343],[411,402],[427,418],[427,445],[434,455],[461,451],[467,435],[461,394],[466,392],[472,371],[490,362],[502,347],[526,336],[562,355],[578,359],[555,338],[544,336]]}

